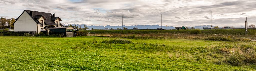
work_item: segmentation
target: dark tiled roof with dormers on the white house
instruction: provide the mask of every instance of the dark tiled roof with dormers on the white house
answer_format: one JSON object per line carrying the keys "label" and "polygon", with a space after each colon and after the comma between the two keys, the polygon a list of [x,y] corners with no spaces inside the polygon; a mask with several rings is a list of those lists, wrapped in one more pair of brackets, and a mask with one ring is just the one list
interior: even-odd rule
{"label": "dark tiled roof with dormers on the white house", "polygon": [[[45,12],[38,12],[38,11],[33,11],[33,15],[30,14],[30,10],[24,10],[25,12],[27,12],[34,20],[37,24],[41,24],[37,19],[39,19],[40,17],[44,17],[45,19],[45,24],[46,25],[57,25],[54,21],[56,19],[59,19],[59,17],[54,17],[52,18],[52,14],[51,13],[45,13]],[[24,13],[24,12],[23,12]],[[20,17],[20,16],[19,16]],[[16,21],[19,19],[19,17],[16,19]],[[55,19],[54,21],[52,21],[52,19]],[[15,22],[16,22],[15,21]],[[61,20],[60,20],[61,21]],[[14,22],[14,23],[15,23]],[[13,25],[14,25],[13,23]],[[62,25],[62,24],[61,24]]]}

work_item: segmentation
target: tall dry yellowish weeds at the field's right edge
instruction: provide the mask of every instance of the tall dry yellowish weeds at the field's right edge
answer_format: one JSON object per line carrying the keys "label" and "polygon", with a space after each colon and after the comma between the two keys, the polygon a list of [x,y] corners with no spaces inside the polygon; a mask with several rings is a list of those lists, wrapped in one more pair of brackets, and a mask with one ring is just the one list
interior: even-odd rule
{"label": "tall dry yellowish weeds at the field's right edge", "polygon": [[226,57],[224,62],[231,65],[256,64],[256,45],[254,44],[222,44],[216,46],[217,51]]}

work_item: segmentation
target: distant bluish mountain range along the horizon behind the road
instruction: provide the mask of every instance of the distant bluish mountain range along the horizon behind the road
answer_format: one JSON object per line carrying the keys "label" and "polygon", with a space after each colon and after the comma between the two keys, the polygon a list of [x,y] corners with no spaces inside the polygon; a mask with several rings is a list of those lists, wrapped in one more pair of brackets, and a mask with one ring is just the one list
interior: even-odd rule
{"label": "distant bluish mountain range along the horizon behind the road", "polygon": [[[70,25],[70,24],[68,24],[68,25]],[[84,28],[84,25],[86,25],[86,24],[81,24],[81,27],[80,27],[80,25],[79,24],[71,24],[72,26],[78,26],[79,28]],[[66,25],[64,25],[64,26],[66,26]],[[86,25],[87,26],[87,25]],[[159,25],[132,25],[132,26],[125,26],[124,25],[124,27],[125,28],[127,28],[127,29],[133,29],[133,28],[139,28],[139,29],[157,29],[157,28],[161,28],[161,26],[159,26]],[[173,26],[162,26],[163,27],[163,29],[174,29],[175,27],[173,27]],[[181,26],[180,26],[181,27]],[[203,25],[203,26],[194,26],[194,28],[203,28],[203,27],[209,27],[210,28],[210,25]],[[215,26],[213,26],[213,27],[215,27]],[[111,29],[111,28],[113,28],[113,29],[117,29],[117,28],[122,28],[122,26],[110,26],[110,25],[107,25],[107,26],[94,26],[94,25],[92,25],[92,26],[89,26],[89,28],[91,29],[91,28],[93,28],[93,29],[104,29],[104,28],[109,28],[109,29]],[[191,28],[191,27],[188,27],[188,28]],[[220,27],[221,28],[221,27]],[[237,27],[237,28],[244,28],[243,26],[241,26],[241,27]]]}

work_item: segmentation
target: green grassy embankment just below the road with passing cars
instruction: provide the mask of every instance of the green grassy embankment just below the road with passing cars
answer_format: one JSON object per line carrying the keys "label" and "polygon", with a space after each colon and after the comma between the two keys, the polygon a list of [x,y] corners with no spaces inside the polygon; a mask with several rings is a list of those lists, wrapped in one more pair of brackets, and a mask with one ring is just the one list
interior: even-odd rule
{"label": "green grassy embankment just below the road with passing cars", "polygon": [[[81,30],[88,31],[88,30]],[[193,30],[89,30],[88,32],[95,33],[190,33]],[[204,34],[232,34],[232,35],[244,35],[246,34],[243,29],[221,29],[221,30],[201,30]]]}

